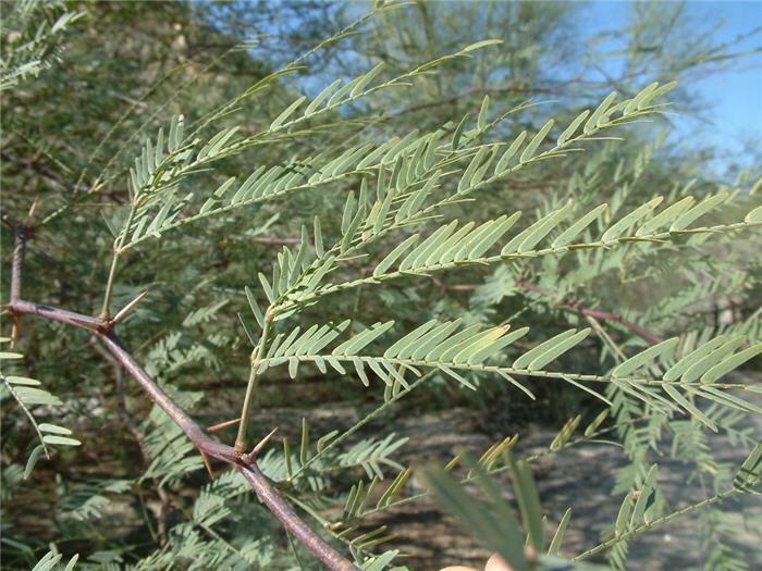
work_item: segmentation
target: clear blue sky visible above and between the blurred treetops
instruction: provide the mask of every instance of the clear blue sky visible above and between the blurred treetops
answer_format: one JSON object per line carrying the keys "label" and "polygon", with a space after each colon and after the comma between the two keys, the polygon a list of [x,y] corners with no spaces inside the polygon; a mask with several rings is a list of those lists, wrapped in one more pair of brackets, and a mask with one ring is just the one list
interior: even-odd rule
{"label": "clear blue sky visible above and between the blurred treetops", "polygon": [[[431,0],[435,1],[435,0]],[[477,2],[479,0],[464,0]],[[500,0],[499,0],[500,1]],[[667,8],[675,8],[676,2],[663,2]],[[278,2],[273,0],[273,4]],[[351,12],[365,13],[369,8],[369,0],[354,0],[349,2]],[[483,2],[487,7],[487,2]],[[272,5],[272,4],[271,4]],[[578,30],[579,38],[582,41],[591,41],[601,36],[602,30],[622,29],[628,24],[628,13],[634,3],[631,1],[605,1],[591,0],[580,2],[578,8],[580,11],[574,11],[574,24]],[[643,5],[652,5],[648,0]],[[284,11],[280,14],[281,22],[274,27],[286,23],[286,27],[296,27],[300,25],[298,4],[292,7],[292,12]],[[353,10],[354,9],[354,10]],[[693,37],[711,29],[717,22],[724,21],[724,25],[712,33],[709,42],[713,46],[728,44],[733,45],[729,52],[753,51],[762,48],[762,0],[754,1],[698,1],[688,0],[684,4],[684,11],[680,14],[680,27],[688,25],[688,36],[685,38],[690,41]],[[272,23],[265,23],[265,28]],[[273,27],[273,30],[274,30]],[[479,29],[481,29],[480,26]],[[696,36],[690,33],[696,30]],[[686,32],[683,27],[681,32]],[[671,38],[673,41],[672,50],[679,44],[675,45],[678,34],[676,32]],[[735,40],[739,36],[749,35],[741,42],[736,44]],[[475,29],[474,40],[482,39],[479,37],[478,30]],[[351,41],[351,40],[347,40]],[[657,40],[655,40],[657,41]],[[597,46],[597,50],[615,50],[618,47],[616,40],[604,41]],[[666,52],[671,52],[669,49]],[[615,66],[616,57],[605,60],[605,65]],[[564,62],[563,66],[570,65],[576,70],[579,62]],[[684,114],[673,117],[673,131],[668,137],[668,142],[678,145],[683,149],[698,149],[703,147],[715,147],[721,149],[718,158],[712,162],[711,166],[716,173],[722,173],[733,163],[751,164],[755,159],[759,159],[762,150],[762,53],[746,55],[742,65],[734,63],[734,71],[723,71],[713,73],[705,77],[689,77],[684,80],[683,87],[689,92],[696,94],[698,100],[704,105],[704,119]],[[613,70],[613,67],[612,67]],[[595,78],[595,72],[588,66],[586,75],[591,74],[591,78]],[[563,77],[563,70],[560,76]],[[612,74],[616,76],[617,74]],[[603,76],[597,77],[603,79]],[[662,77],[663,80],[669,80],[673,76]],[[304,89],[308,94],[315,95],[324,85],[323,77],[295,77],[292,80],[299,84],[298,88]],[[634,85],[644,85],[651,79],[647,76],[637,77]],[[610,89],[610,87],[606,87]],[[315,92],[312,92],[315,91]],[[564,94],[558,94],[560,98]],[[570,95],[570,94],[569,94]]]}

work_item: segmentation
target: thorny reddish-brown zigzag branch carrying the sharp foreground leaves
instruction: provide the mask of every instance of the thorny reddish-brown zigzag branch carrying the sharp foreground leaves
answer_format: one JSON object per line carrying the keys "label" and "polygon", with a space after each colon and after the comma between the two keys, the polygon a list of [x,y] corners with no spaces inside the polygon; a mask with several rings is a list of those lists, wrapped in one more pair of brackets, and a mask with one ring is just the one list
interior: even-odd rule
{"label": "thorny reddish-brown zigzag branch carrying the sharp foreground leaves", "polygon": [[25,234],[23,234],[23,227],[16,227],[14,229],[16,234],[16,245],[13,250],[11,299],[2,309],[8,310],[14,316],[23,314],[39,315],[51,321],[58,321],[94,332],[115,361],[120,363],[130,376],[137,381],[148,397],[182,429],[185,435],[196,445],[201,455],[233,464],[235,469],[243,474],[268,509],[281,521],[283,526],[330,569],[334,571],[359,571],[356,566],[342,557],[333,547],[328,545],[315,533],[283,500],[272,483],[259,470],[256,458],[254,458],[256,455],[242,456],[236,452],[232,446],[212,439],[202,426],[194,421],[187,412],[177,406],[177,404],[162,390],[156,381],[151,378],[137,361],[135,361],[130,351],[124,347],[116,336],[116,333],[113,331],[113,323],[21,299],[22,265],[26,240]]}

